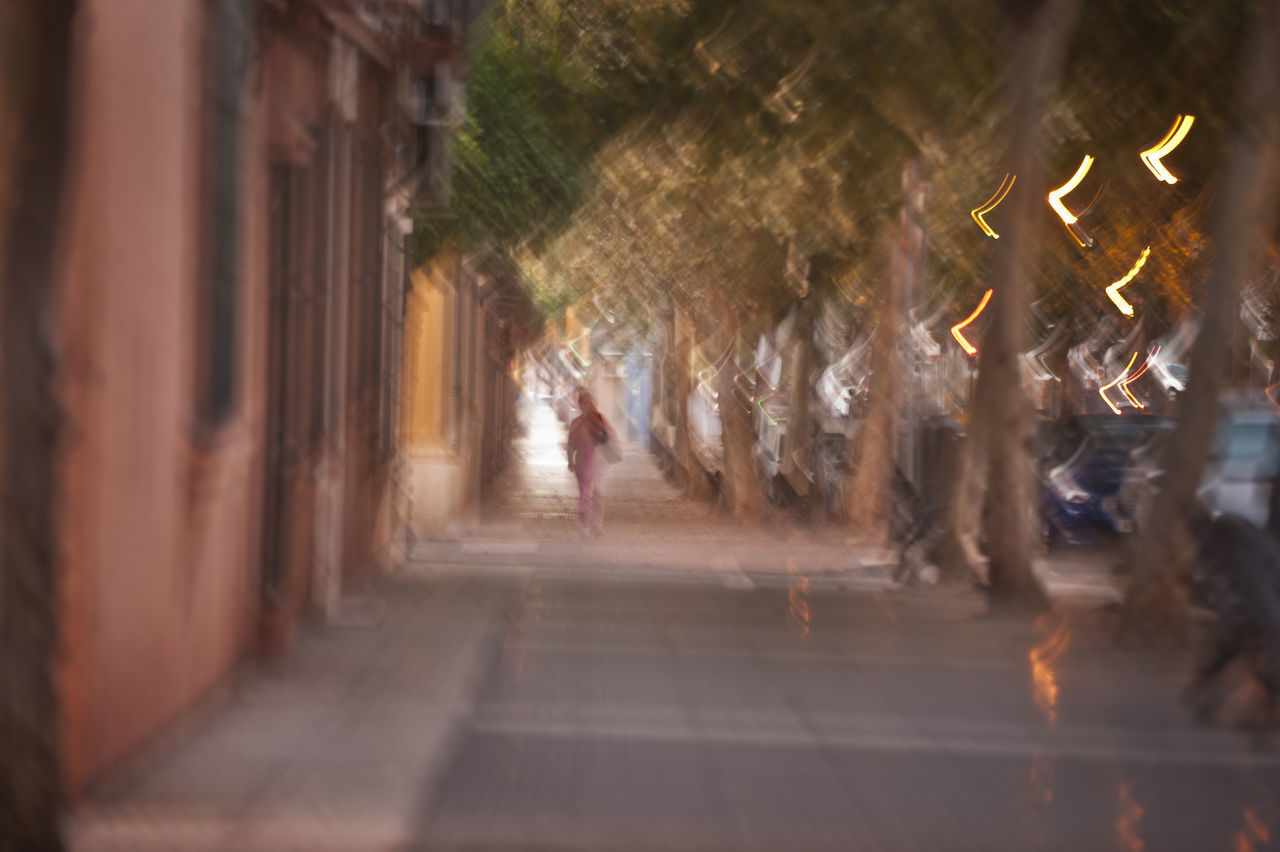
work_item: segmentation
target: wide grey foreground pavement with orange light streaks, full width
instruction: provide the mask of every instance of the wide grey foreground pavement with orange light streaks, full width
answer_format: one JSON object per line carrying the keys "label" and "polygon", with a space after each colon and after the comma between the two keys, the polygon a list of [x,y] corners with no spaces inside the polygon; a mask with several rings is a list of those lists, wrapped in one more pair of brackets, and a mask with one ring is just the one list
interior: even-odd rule
{"label": "wide grey foreground pavement with orange light streaks, full width", "polygon": [[[157,743],[77,852],[1266,848],[1187,650],[972,596],[404,574]],[[1130,807],[1134,806],[1134,807]],[[1254,838],[1256,839],[1256,838]]]}

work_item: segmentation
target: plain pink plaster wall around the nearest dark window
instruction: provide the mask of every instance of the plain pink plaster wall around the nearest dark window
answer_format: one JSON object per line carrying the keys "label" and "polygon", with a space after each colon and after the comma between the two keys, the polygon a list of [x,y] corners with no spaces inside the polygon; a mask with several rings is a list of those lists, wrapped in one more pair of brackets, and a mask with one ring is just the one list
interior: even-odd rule
{"label": "plain pink plaster wall around the nearest dark window", "polygon": [[68,784],[138,746],[251,641],[265,371],[265,122],[252,106],[239,404],[193,432],[200,0],[87,0],[61,331]]}

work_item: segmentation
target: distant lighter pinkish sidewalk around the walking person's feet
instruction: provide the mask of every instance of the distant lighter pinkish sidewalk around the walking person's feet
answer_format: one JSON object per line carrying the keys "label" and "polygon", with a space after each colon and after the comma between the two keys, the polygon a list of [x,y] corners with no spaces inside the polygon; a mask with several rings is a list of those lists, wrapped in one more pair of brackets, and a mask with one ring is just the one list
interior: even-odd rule
{"label": "distant lighter pinkish sidewalk around the walking person's feet", "polygon": [[[605,487],[605,533],[584,539],[577,528],[577,486],[568,472],[564,429],[543,404],[526,408],[520,459],[494,487],[484,519],[444,540],[416,541],[408,558],[417,571],[557,569],[602,576],[707,574],[728,583],[768,582],[803,573],[841,587],[892,587],[897,551],[869,544],[835,525],[800,526],[776,517],[746,527],[716,507],[686,500],[648,450],[627,444]],[[1111,556],[1060,550],[1037,572],[1055,599],[1115,601],[1121,588]]]}

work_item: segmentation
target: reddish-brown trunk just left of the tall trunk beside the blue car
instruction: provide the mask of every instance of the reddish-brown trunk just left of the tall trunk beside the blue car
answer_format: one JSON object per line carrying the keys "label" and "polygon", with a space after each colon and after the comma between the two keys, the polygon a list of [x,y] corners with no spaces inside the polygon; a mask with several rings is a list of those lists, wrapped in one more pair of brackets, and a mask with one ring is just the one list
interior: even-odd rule
{"label": "reddish-brown trunk just left of the tall trunk beside the blue car", "polygon": [[[895,225],[888,225],[884,230],[886,260],[896,256],[892,239],[895,232]],[[870,409],[849,455],[854,461],[852,480],[849,484],[849,525],[877,541],[888,536],[888,519],[893,508],[891,484],[897,450],[897,421],[902,402],[897,354],[902,325],[897,270],[891,267],[886,280],[888,284],[881,299],[879,330],[872,351]]]}

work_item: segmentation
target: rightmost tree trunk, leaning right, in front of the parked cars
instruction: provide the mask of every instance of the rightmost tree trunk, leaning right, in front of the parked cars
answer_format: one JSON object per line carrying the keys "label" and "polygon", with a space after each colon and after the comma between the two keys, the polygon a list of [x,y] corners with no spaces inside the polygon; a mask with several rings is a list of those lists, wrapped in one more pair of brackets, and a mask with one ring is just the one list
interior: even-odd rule
{"label": "rightmost tree trunk, leaning right, in front of the parked cars", "polygon": [[1244,56],[1244,90],[1235,110],[1240,125],[1225,151],[1226,182],[1203,320],[1192,347],[1187,393],[1178,404],[1178,425],[1162,452],[1165,481],[1151,514],[1160,522],[1144,527],[1137,548],[1134,578],[1124,601],[1125,631],[1179,637],[1187,631],[1184,580],[1194,553],[1187,522],[1194,512],[1196,489],[1213,438],[1251,241],[1256,233],[1271,233],[1276,214],[1280,0],[1262,6]]}

